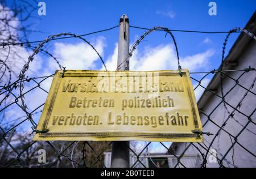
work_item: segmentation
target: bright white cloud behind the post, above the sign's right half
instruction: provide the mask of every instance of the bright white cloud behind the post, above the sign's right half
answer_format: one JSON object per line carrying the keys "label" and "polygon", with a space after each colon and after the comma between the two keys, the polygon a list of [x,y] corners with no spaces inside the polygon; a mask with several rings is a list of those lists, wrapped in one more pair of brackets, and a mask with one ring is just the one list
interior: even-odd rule
{"label": "bright white cloud behind the post, above the sign's right half", "polygon": [[[114,53],[106,60],[109,70],[117,68],[118,45],[115,44]],[[214,54],[214,50],[209,49],[203,53],[194,54],[180,58],[180,65],[189,71],[199,71],[207,69],[209,59]],[[102,70],[104,68],[102,67]],[[137,49],[130,58],[130,70],[177,70],[177,57],[174,45],[159,45],[154,48],[146,47],[142,50]]]}

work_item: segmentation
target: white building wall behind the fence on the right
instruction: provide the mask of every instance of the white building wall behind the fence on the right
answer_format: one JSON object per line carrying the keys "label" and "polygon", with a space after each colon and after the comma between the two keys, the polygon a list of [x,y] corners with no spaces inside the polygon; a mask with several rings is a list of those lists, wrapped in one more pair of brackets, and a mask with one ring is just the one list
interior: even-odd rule
{"label": "white building wall behind the fence on the right", "polygon": [[[240,59],[238,59],[239,65],[236,66],[234,69],[245,69],[249,66],[256,68],[256,41],[253,41],[250,43],[248,48],[246,48],[246,52],[243,53]],[[233,69],[232,69],[233,70]],[[229,73],[232,78],[237,79],[238,76],[240,76],[243,72],[239,73]],[[256,78],[256,71],[250,71],[249,73],[246,73],[239,79],[239,83],[249,89],[251,84],[253,83],[254,79]],[[224,79],[224,95],[226,92],[232,88],[236,82],[234,80],[231,80],[229,78]],[[255,83],[254,83],[255,84]],[[250,91],[253,91],[256,93],[256,84],[253,88],[250,89]],[[239,101],[242,99],[243,95],[245,94],[246,90],[242,87],[236,86],[226,97],[225,101],[227,101],[230,105],[236,107],[236,105],[239,103]],[[218,88],[217,94],[221,96],[221,88]],[[212,113],[212,110],[217,106],[218,103],[221,102],[221,99],[217,96],[213,96],[208,103],[205,105],[205,108],[203,109],[204,113],[209,115]],[[230,112],[233,111],[233,109],[228,106],[228,110]],[[242,131],[242,133],[238,136],[238,142],[245,147],[247,150],[249,150],[252,154],[256,155],[256,112],[254,109],[256,108],[256,96],[252,93],[247,93],[247,96],[242,101],[242,105],[238,110],[240,112],[246,114],[247,116],[250,116],[253,119],[253,123],[249,123],[249,125],[246,127],[245,130]],[[207,121],[207,117],[200,114],[201,121],[204,124],[205,121]],[[226,120],[228,117],[228,113],[225,113],[224,105],[221,104],[218,106],[218,108],[210,115],[210,119],[215,122],[217,125],[221,126],[222,123]],[[237,121],[235,121],[237,120]],[[208,122],[204,127],[203,131],[209,131],[212,134],[216,134],[217,131],[220,129],[216,125],[213,124],[213,122]],[[248,118],[243,116],[241,113],[235,111],[234,112],[234,118],[230,118],[224,127],[224,130],[228,131],[230,134],[236,136],[240,133],[240,131],[243,129],[243,126],[245,126],[248,122]],[[248,130],[250,131],[248,131]],[[209,143],[212,142],[215,135],[210,135],[209,137],[207,135],[204,135],[204,143],[206,146],[209,146]],[[234,142],[234,139],[232,138],[232,142]],[[221,133],[217,136],[217,138],[214,140],[212,147],[217,151],[218,158],[222,159],[222,156],[226,153],[226,151],[229,150],[230,146],[232,146],[232,142],[230,140],[230,137],[225,131],[221,131]],[[189,143],[187,143],[188,146]],[[203,143],[201,143],[202,146],[204,146]],[[205,154],[205,150],[199,146],[199,144],[195,145],[200,148],[201,151]],[[179,143],[176,154],[181,154],[185,149],[185,143]],[[195,147],[191,146],[189,149],[185,152],[185,154],[199,154],[199,152],[196,150]],[[232,159],[233,156],[233,159]],[[209,157],[209,155],[208,155]],[[209,159],[207,157],[207,159]],[[242,148],[239,144],[235,144],[233,149],[231,149],[226,155],[225,160],[223,161],[223,164],[226,167],[233,167],[233,161],[234,165],[236,167],[256,167],[256,157],[251,155],[249,152],[247,152],[244,148]],[[219,167],[220,165],[218,163],[207,163],[207,167]]]}

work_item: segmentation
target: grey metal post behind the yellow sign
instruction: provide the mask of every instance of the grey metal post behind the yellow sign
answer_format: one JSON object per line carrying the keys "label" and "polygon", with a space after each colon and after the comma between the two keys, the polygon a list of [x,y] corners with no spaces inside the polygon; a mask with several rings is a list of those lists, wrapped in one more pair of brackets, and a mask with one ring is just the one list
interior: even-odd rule
{"label": "grey metal post behind the yellow sign", "polygon": [[[123,14],[119,22],[117,70],[129,70],[129,19]],[[112,144],[111,167],[129,168],[129,141],[115,141]]]}

